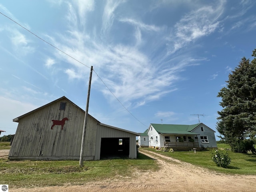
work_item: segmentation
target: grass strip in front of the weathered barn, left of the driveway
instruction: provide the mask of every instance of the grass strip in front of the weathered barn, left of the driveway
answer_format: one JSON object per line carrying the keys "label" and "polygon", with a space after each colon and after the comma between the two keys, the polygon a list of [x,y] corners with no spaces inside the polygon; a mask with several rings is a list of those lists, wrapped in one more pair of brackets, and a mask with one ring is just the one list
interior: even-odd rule
{"label": "grass strip in front of the weathered barn, left of the driveway", "polygon": [[90,181],[129,179],[134,172],[158,170],[156,161],[140,154],[138,159],[85,161],[10,161],[0,159],[0,181],[12,188],[81,185]]}

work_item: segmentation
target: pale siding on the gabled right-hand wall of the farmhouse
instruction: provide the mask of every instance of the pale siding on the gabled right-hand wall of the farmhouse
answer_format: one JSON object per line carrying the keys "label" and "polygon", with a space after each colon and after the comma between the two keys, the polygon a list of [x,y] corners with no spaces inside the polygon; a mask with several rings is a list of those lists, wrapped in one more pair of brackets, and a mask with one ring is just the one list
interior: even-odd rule
{"label": "pale siding on the gabled right-hand wall of the farmhouse", "polygon": [[[201,130],[201,127],[203,127],[204,131]],[[211,130],[210,128],[208,128],[207,126],[204,126],[203,124],[198,126],[197,128],[195,128],[194,130],[192,130],[192,132],[198,133],[198,144],[199,147],[204,147],[204,148],[209,148],[209,147],[213,147],[216,148],[217,147],[217,142],[215,139],[215,134],[214,131]],[[202,143],[200,140],[200,136],[207,136],[208,137],[208,141],[209,143]]]}

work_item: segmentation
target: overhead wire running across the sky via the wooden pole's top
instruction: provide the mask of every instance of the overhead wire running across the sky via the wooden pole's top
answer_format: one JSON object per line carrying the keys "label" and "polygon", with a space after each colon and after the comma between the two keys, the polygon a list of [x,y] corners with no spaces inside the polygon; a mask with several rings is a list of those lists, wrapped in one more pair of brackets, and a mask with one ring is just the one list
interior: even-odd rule
{"label": "overhead wire running across the sky via the wooden pole's top", "polygon": [[[77,60],[76,58],[70,56],[69,54],[67,54],[66,52],[60,50],[59,48],[57,48],[56,46],[50,44],[49,42],[47,42],[46,40],[44,40],[43,38],[40,38],[38,35],[34,34],[33,32],[31,32],[30,30],[28,30],[27,28],[25,28],[24,26],[22,26],[21,24],[19,24],[18,22],[14,21],[12,18],[6,16],[5,14],[3,14],[2,12],[0,12],[0,14],[2,14],[3,16],[5,16],[6,18],[10,19],[12,22],[18,24],[20,27],[24,28],[25,30],[27,30],[28,32],[30,32],[31,34],[33,34],[34,36],[36,36],[37,38],[39,38],[40,40],[44,41],[45,43],[49,44],[50,46],[56,48],[57,50],[59,50],[60,52],[64,53],[65,55],[69,56],[70,58],[76,60],[77,62],[79,62],[80,64],[90,68],[89,66],[87,66],[86,64],[80,62],[79,60]],[[93,70],[94,71],[94,70]],[[102,78],[100,78],[100,76],[94,71],[94,73],[98,76],[98,78],[102,81],[102,83],[106,86],[106,88],[110,91],[110,93],[116,98],[116,100],[118,100],[118,102],[138,121],[140,122],[140,120],[138,120],[138,118],[136,118],[123,104],[122,102],[120,102],[120,100],[114,95],[114,93],[110,90],[110,88],[108,88],[108,86],[105,84],[105,82],[102,80]],[[142,122],[140,122],[142,125],[146,126],[145,124],[143,124]],[[146,126],[147,127],[147,126]]]}

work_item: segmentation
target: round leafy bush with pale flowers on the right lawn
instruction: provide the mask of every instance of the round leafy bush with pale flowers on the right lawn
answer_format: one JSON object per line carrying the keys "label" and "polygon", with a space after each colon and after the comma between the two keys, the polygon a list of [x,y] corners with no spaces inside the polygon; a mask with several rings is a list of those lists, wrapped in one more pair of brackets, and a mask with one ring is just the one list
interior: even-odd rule
{"label": "round leafy bush with pale flowers on the right lawn", "polygon": [[231,162],[231,158],[228,156],[226,150],[211,150],[211,156],[214,163],[217,164],[218,167],[227,168]]}

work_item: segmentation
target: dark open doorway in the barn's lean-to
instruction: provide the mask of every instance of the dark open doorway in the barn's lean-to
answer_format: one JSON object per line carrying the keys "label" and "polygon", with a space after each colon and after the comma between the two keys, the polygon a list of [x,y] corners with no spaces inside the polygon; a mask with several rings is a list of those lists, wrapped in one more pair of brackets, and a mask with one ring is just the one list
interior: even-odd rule
{"label": "dark open doorway in the barn's lean-to", "polygon": [[100,159],[129,158],[130,138],[101,138]]}

